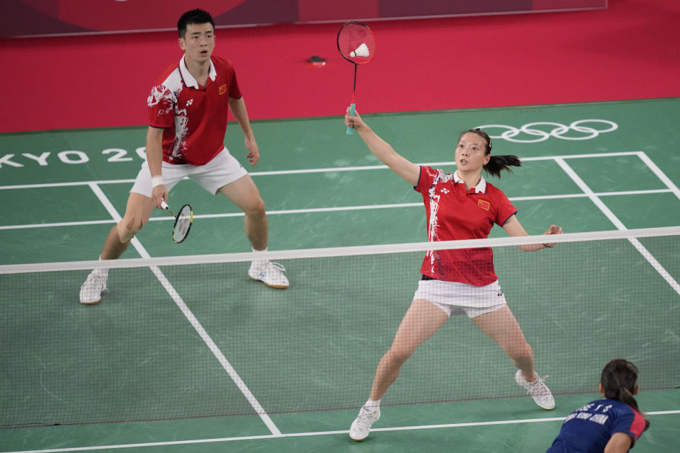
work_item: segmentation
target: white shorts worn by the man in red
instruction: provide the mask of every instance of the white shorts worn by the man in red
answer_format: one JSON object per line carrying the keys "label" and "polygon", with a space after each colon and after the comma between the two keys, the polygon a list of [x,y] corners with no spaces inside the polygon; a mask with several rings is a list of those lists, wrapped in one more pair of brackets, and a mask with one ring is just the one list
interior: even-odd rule
{"label": "white shorts worn by the man in red", "polygon": [[[212,195],[216,195],[217,190],[247,174],[248,171],[239,164],[239,161],[234,159],[234,156],[229,154],[227,148],[222,149],[217,156],[212,158],[212,161],[205,165],[174,165],[163,162],[162,166],[163,183],[168,191],[186,177],[196,181],[198,185],[208,190]],[[152,190],[149,164],[144,161],[130,193],[139,193],[145,197],[151,197]]]}

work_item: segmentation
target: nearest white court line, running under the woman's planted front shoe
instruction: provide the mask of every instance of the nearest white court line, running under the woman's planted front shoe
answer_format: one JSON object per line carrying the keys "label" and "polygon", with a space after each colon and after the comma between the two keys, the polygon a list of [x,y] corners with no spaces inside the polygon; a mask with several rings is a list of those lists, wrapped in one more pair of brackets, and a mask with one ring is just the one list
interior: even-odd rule
{"label": "nearest white court line, running under the woman's planted front shoe", "polygon": [[[645,415],[672,415],[680,413],[680,411],[656,411],[645,412]],[[489,425],[516,425],[521,423],[542,423],[542,422],[558,422],[565,420],[565,417],[550,417],[550,418],[526,418],[523,420],[495,420],[490,422],[469,422],[469,423],[446,423],[443,425],[420,425],[420,426],[396,426],[394,428],[371,428],[371,432],[379,431],[406,431],[406,430],[432,430],[440,428],[467,428],[470,426],[489,426]],[[50,448],[40,450],[18,450],[15,452],[4,453],[61,453],[61,452],[86,452],[92,450],[102,449],[121,449],[121,448],[135,448],[135,447],[161,447],[166,445],[188,445],[188,444],[203,444],[211,442],[232,442],[234,440],[263,440],[263,439],[277,439],[283,437],[308,437],[308,436],[324,436],[324,435],[345,435],[348,430],[341,431],[315,431],[315,432],[290,432],[280,433],[279,435],[259,435],[259,436],[242,436],[242,437],[216,437],[212,439],[193,439],[193,440],[169,440],[166,442],[143,442],[137,444],[118,444],[118,445],[98,445],[95,447],[71,447],[71,448]]]}

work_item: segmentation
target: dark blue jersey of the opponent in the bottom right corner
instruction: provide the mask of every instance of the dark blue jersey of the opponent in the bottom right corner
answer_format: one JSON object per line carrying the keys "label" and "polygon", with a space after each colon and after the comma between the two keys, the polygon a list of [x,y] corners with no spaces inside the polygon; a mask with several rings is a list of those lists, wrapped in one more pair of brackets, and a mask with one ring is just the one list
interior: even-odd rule
{"label": "dark blue jersey of the opponent in the bottom right corner", "polygon": [[546,453],[596,453],[616,432],[625,432],[633,441],[645,430],[645,418],[627,404],[613,399],[592,401],[572,412],[555,442]]}

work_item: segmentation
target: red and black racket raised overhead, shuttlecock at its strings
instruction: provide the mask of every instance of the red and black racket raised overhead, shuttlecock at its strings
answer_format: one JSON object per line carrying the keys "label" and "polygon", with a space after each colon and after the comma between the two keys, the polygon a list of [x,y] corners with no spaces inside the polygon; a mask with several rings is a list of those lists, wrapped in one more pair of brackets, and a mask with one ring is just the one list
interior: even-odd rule
{"label": "red and black racket raised overhead, shuttlecock at its strings", "polygon": [[[361,22],[347,22],[338,32],[338,50],[340,55],[354,65],[354,88],[352,91],[352,103],[349,106],[349,114],[354,115],[356,108],[356,66],[366,64],[375,57],[375,38],[368,25]],[[354,133],[352,127],[347,127],[347,134]]]}

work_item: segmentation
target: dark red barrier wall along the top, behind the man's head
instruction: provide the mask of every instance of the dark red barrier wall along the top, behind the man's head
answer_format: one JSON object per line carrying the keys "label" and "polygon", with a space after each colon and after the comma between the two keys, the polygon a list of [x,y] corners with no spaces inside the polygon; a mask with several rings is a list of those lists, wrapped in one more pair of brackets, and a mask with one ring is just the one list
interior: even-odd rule
{"label": "dark red barrier wall along the top, behind the man's head", "polygon": [[[1,36],[171,30],[186,0],[14,0],[0,3]],[[202,0],[217,27],[606,8],[607,0]]]}

